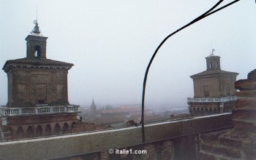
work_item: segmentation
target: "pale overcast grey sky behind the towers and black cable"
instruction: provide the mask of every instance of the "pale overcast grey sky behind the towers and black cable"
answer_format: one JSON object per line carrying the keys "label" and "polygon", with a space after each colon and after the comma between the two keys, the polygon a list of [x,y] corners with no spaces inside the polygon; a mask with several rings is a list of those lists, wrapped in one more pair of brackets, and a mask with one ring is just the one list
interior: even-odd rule
{"label": "pale overcast grey sky behind the towers and black cable", "polygon": [[[225,1],[224,4],[227,4]],[[141,103],[143,76],[162,39],[211,8],[216,0],[0,0],[0,66],[26,57],[38,23],[48,37],[47,57],[74,63],[69,103]],[[146,105],[187,106],[189,76],[206,70],[210,50],[238,79],[256,68],[256,4],[241,0],[171,37],[148,74]],[[0,104],[7,103],[7,75],[0,72]]]}

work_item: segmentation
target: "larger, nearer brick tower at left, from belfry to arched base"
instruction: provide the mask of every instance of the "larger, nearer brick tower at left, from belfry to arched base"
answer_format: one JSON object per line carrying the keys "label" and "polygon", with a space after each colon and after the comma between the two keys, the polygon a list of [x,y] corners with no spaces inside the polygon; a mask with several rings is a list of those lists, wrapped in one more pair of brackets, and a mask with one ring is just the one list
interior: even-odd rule
{"label": "larger, nearer brick tower at left, from belfry to arched base", "polygon": [[78,123],[79,105],[68,101],[67,73],[72,63],[46,57],[48,37],[37,20],[26,37],[26,57],[7,60],[8,103],[1,106],[2,139],[60,134]]}

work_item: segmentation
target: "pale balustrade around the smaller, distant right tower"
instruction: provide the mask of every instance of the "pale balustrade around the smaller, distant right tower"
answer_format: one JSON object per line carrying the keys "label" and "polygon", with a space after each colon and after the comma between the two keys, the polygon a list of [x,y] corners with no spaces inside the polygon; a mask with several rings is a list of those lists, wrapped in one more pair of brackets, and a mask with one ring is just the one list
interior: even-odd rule
{"label": "pale balustrade around the smaller, distant right tower", "polygon": [[233,97],[206,97],[206,98],[188,98],[188,103],[225,103],[236,100],[236,96]]}

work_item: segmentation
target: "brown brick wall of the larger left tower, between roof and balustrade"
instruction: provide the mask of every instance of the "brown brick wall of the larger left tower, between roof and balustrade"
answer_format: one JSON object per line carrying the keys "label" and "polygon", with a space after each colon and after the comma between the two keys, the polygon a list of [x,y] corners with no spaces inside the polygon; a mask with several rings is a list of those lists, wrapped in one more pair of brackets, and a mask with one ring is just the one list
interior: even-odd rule
{"label": "brown brick wall of the larger left tower, between roof and balustrade", "polygon": [[68,104],[65,70],[12,68],[8,77],[11,107]]}

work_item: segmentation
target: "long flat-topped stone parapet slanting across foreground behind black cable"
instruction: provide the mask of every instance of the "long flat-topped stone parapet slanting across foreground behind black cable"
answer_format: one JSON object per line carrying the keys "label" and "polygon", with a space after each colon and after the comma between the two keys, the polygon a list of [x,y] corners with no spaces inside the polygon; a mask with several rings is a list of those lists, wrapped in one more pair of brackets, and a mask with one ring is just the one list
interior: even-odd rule
{"label": "long flat-topped stone parapet slanting across foreground behind black cable", "polygon": [[[145,138],[146,142],[151,142],[230,125],[232,125],[230,113],[180,121],[166,121],[158,124],[147,124],[145,126]],[[95,151],[108,151],[110,148],[125,148],[140,143],[141,127],[111,129],[77,135],[0,143],[0,159],[53,159]],[[184,143],[184,148],[187,148],[187,143]]]}

